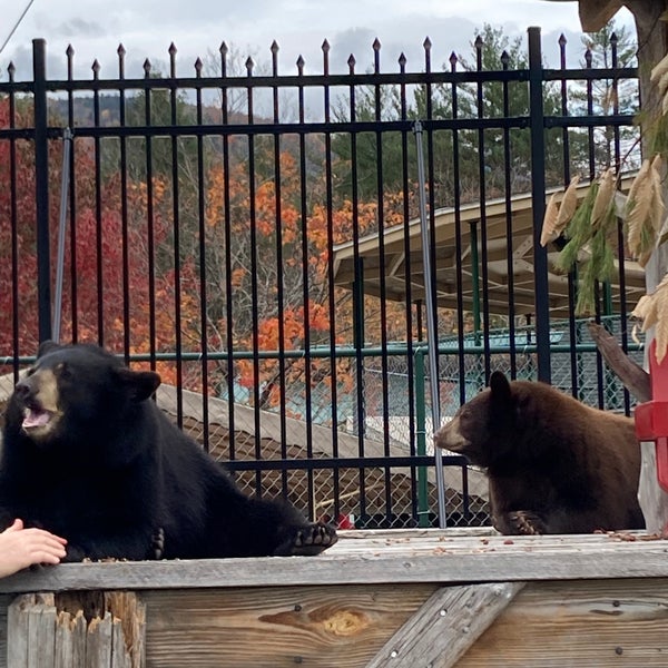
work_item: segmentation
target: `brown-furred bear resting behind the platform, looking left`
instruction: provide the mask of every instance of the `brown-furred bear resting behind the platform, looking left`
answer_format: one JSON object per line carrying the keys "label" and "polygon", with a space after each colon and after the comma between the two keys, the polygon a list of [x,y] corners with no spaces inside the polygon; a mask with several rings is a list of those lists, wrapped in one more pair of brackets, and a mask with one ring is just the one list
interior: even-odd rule
{"label": "brown-furred bear resting behind the platform, looking left", "polygon": [[463,404],[434,443],[487,469],[501,533],[641,529],[633,421],[541,382],[508,381]]}

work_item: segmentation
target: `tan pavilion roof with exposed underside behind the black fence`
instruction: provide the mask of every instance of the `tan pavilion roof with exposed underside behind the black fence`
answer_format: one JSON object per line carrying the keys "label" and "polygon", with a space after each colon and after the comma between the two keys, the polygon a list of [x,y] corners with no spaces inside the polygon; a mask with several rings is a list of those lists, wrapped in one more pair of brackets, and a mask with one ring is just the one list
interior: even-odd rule
{"label": "tan pavilion roof with exposed underside behind the black fence", "polygon": [[[627,191],[635,174],[622,177],[621,190]],[[589,184],[578,187],[578,197],[584,197]],[[562,189],[554,189],[560,202]],[[510,210],[510,215],[508,215]],[[434,213],[435,236],[435,284],[439,306],[458,307],[456,284],[456,217],[454,208],[438,209]],[[466,204],[459,209],[461,220],[461,264],[462,264],[462,305],[464,311],[473,311],[473,257],[471,227],[478,229],[479,272],[482,266],[482,246],[480,242],[481,219],[487,230],[487,294],[491,314],[509,313],[508,254],[512,255],[513,299],[515,315],[532,314],[534,306],[533,274],[533,209],[531,195],[517,195],[507,203],[505,198],[488,200],[482,207],[479,203]],[[511,244],[507,243],[510,228]],[[355,258],[363,259],[363,289],[365,294],[381,296],[381,277],[384,278],[384,296],[404,302],[406,298],[406,257],[410,259],[411,301],[424,298],[424,276],[422,263],[422,240],[420,219],[407,225],[387,227],[383,230],[384,262],[381,267],[380,236],[377,233],[362,237],[357,243],[357,253],[353,242],[340,244],[334,248],[334,282],[341,287],[352,289],[355,277]],[[406,254],[406,240],[409,253]],[[550,244],[548,247],[548,284],[550,289],[550,312],[560,317],[568,316],[568,277],[554,265],[559,250]],[[618,263],[616,262],[616,266]],[[628,303],[635,305],[645,294],[645,271],[633,261],[623,263],[626,295]],[[482,298],[482,276],[480,298]],[[612,284],[612,299],[618,303],[619,281]]]}

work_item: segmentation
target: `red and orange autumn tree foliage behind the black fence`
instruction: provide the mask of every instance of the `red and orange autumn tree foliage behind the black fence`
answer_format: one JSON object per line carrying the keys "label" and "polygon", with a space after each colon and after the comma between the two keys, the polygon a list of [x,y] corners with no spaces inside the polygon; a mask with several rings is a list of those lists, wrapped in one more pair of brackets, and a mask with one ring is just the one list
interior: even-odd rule
{"label": "red and orange autumn tree foliage behind the black fence", "polygon": [[[13,124],[29,125],[31,110],[24,114]],[[0,99],[0,129],[10,120]],[[331,345],[332,331],[335,345],[352,343],[350,293],[328,284],[331,248],[374,232],[379,219],[401,223],[403,198],[386,196],[382,216],[377,200],[354,207],[342,197],[333,206],[322,183],[303,183],[294,148],[279,153],[272,173],[250,174],[240,138],[230,140],[227,164],[207,156],[199,178],[189,145],[179,144],[176,183],[170,165],[149,170],[145,147],[134,155],[128,144],[132,168],[124,175],[119,141],[73,140],[61,341],[143,354],[166,383],[205,383],[215,394],[245,389],[263,406],[277,405],[285,384],[351,385],[345,358],[291,353]],[[53,284],[62,140],[50,140],[49,160]],[[38,345],[35,156],[23,139],[0,139],[0,253],[2,354],[30,355]],[[366,336],[381,341],[395,330],[405,337],[404,306],[385,313],[389,332],[381,331],[377,303],[369,306]],[[168,358],[203,348],[223,355],[206,366]]]}

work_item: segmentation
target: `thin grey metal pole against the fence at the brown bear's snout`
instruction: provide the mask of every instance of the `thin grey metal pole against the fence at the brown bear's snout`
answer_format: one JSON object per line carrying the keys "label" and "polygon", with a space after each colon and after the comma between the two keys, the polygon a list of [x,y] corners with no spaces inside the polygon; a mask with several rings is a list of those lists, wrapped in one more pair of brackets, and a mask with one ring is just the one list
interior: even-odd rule
{"label": "thin grey metal pole against the fence at the brown bear's snout", "polygon": [[[422,262],[424,266],[424,304],[426,306],[426,342],[429,344],[429,374],[432,404],[432,430],[441,424],[441,406],[439,405],[439,333],[436,327],[435,292],[432,282],[431,249],[429,226],[426,224],[426,184],[424,179],[424,156],[422,151],[422,124],[414,125],[418,146],[418,181],[420,184],[420,225],[422,232]],[[443,475],[443,454],[434,449],[436,462],[436,488],[439,495],[439,527],[445,527],[445,480]]]}

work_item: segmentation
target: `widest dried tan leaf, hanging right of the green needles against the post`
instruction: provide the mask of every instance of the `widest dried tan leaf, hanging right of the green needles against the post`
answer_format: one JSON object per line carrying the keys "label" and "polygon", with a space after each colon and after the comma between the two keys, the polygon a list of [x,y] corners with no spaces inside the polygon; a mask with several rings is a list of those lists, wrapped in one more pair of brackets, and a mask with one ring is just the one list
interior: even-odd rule
{"label": "widest dried tan leaf, hanging right of the green needles against the post", "polygon": [[626,204],[629,250],[645,266],[660,242],[665,206],[661,193],[661,157],[646,159],[633,179]]}

